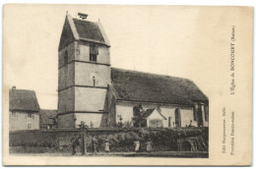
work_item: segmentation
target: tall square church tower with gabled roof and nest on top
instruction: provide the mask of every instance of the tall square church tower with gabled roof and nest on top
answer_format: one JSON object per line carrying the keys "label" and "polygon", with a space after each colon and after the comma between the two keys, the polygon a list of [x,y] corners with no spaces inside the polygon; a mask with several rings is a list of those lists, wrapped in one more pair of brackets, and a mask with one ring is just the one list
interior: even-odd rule
{"label": "tall square church tower with gabled roof and nest on top", "polygon": [[81,121],[100,127],[107,121],[110,43],[99,22],[79,16],[66,15],[58,47],[59,128],[78,127]]}

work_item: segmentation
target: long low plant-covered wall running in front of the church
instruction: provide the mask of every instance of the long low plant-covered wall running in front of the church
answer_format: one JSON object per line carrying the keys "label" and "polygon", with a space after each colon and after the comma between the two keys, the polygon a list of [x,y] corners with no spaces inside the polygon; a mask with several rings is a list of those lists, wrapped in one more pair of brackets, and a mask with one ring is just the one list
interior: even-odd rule
{"label": "long low plant-covered wall running in front of the church", "polygon": [[[19,131],[10,133],[11,152],[16,153],[72,153],[82,152],[83,131],[56,129],[47,131]],[[97,151],[104,151],[107,140],[112,152],[134,151],[134,141],[140,141],[140,151],[152,141],[154,151],[208,151],[208,128],[183,129],[87,129],[86,150],[93,152],[93,137]]]}

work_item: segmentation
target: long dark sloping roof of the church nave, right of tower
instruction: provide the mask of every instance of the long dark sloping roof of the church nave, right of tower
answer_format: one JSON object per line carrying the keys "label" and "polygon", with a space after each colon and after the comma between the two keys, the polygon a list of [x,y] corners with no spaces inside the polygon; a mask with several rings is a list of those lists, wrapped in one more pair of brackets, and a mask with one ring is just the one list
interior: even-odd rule
{"label": "long dark sloping roof of the church nave, right of tower", "polygon": [[182,78],[111,68],[111,82],[121,100],[186,105],[208,101],[196,84]]}

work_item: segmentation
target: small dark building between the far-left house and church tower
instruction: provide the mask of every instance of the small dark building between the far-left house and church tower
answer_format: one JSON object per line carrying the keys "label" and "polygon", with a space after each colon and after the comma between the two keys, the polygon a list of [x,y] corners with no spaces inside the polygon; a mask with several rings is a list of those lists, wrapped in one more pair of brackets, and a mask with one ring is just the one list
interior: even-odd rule
{"label": "small dark building between the far-left house and church tower", "polygon": [[54,129],[57,128],[57,110],[41,109],[39,112],[39,128]]}

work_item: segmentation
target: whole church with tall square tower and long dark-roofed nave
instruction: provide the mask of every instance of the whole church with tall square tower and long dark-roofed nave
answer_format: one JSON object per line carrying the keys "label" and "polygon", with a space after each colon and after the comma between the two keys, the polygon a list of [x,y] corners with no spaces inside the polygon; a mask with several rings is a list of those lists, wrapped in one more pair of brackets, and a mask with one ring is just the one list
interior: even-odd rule
{"label": "whole church with tall square tower and long dark-roofed nave", "polygon": [[110,42],[88,15],[66,15],[58,47],[58,128],[208,127],[209,100],[192,81],[112,68]]}

